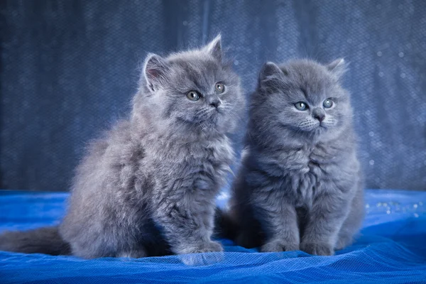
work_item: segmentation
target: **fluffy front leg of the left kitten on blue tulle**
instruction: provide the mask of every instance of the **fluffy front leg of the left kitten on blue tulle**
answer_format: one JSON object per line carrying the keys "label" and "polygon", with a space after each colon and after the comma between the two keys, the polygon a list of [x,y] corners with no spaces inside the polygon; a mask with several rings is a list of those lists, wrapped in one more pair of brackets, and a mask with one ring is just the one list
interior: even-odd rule
{"label": "fluffy front leg of the left kitten on blue tulle", "polygon": [[207,253],[223,251],[222,246],[212,241],[214,204],[203,206],[194,200],[182,197],[180,202],[160,207],[155,216],[163,228],[165,239],[173,253]]}

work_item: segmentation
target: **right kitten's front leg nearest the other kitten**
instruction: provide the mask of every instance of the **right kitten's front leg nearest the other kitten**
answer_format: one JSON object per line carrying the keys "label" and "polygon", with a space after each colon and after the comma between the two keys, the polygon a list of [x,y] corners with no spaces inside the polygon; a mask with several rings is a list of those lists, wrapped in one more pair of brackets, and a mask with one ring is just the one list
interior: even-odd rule
{"label": "right kitten's front leg nearest the other kitten", "polygon": [[256,207],[261,205],[256,209],[256,215],[261,220],[261,226],[266,234],[266,244],[261,246],[261,251],[299,250],[300,236],[295,207],[285,203],[275,206],[271,203],[262,203],[256,204]]}

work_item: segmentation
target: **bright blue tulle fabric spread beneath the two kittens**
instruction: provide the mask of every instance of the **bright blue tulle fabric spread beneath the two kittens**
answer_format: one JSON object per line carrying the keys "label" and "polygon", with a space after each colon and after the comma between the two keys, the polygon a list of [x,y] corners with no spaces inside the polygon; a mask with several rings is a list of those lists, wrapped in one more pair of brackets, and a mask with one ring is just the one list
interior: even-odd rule
{"label": "bright blue tulle fabric spread beneath the two kittens", "polygon": [[[56,224],[66,193],[0,193],[0,231]],[[218,200],[226,202],[226,195]],[[426,283],[426,192],[368,190],[362,236],[336,256],[258,253],[223,240],[222,258],[102,258],[0,252],[0,283]]]}

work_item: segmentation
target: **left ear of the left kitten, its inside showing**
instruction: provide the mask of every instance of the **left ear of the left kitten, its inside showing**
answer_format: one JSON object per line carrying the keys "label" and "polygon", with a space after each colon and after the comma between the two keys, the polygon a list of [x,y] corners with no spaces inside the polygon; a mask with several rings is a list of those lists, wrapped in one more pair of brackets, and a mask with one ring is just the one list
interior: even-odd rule
{"label": "left ear of the left kitten, its inside showing", "polygon": [[148,54],[143,65],[143,75],[146,79],[148,89],[155,91],[158,84],[165,80],[165,75],[169,71],[168,62],[160,55]]}

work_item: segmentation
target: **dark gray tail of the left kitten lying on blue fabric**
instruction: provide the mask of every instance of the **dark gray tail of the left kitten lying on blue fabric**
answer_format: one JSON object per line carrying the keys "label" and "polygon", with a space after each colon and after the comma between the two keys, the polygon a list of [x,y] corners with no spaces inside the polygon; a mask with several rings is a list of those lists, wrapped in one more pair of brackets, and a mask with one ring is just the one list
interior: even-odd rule
{"label": "dark gray tail of the left kitten lying on blue fabric", "polygon": [[0,234],[0,251],[69,255],[70,246],[62,240],[58,226],[46,226],[30,231],[6,231]]}

